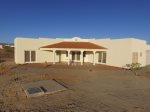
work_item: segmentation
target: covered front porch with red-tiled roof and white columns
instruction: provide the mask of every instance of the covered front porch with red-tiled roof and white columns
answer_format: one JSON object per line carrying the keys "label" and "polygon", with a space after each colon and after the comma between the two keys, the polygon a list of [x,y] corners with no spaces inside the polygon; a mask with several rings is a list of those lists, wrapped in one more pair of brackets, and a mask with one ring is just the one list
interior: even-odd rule
{"label": "covered front porch with red-tiled roof and white columns", "polygon": [[[74,44],[73,46],[70,46]],[[61,45],[61,46],[60,46]],[[52,63],[83,65],[84,63],[106,64],[107,49],[90,42],[61,42],[41,47],[42,51],[52,52]]]}

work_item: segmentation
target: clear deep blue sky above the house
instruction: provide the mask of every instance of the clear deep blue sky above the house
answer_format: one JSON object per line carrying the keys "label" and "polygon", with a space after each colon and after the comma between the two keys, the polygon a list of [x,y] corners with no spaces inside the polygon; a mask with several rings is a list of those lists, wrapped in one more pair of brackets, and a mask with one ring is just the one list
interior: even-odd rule
{"label": "clear deep blue sky above the house", "polygon": [[0,0],[0,42],[75,36],[150,42],[150,0]]}

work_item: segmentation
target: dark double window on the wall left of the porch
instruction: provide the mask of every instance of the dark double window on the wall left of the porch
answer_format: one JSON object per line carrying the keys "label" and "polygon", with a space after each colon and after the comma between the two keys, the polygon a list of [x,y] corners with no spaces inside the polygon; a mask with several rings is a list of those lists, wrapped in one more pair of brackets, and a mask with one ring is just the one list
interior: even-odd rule
{"label": "dark double window on the wall left of the porch", "polygon": [[25,51],[25,62],[35,62],[36,61],[36,52],[35,51]]}

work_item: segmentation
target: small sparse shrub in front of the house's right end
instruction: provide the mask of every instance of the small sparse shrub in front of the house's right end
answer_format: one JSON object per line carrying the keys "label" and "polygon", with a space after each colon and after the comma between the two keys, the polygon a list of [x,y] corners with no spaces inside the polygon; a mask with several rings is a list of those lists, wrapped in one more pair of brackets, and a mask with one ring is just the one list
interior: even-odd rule
{"label": "small sparse shrub in front of the house's right end", "polygon": [[131,63],[131,64],[126,64],[126,67],[131,70],[135,75],[137,75],[137,70],[141,68],[140,63]]}

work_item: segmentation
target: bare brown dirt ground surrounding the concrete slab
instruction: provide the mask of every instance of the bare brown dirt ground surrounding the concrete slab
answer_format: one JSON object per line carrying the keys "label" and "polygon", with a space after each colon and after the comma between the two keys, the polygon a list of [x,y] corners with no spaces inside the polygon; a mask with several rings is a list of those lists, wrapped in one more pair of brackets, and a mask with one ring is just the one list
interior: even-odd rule
{"label": "bare brown dirt ground surrounding the concrete slab", "polygon": [[[0,112],[150,112],[149,66],[135,76],[109,67],[8,65],[0,75]],[[27,98],[21,84],[44,79],[57,79],[68,89]]]}

